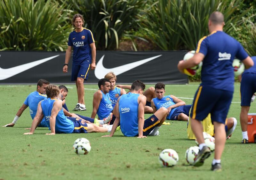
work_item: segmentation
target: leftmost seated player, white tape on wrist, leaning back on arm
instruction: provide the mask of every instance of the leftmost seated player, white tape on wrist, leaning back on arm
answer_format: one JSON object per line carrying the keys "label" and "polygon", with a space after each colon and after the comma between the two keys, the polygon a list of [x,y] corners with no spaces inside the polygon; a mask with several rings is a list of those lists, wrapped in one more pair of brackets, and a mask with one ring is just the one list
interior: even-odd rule
{"label": "leftmost seated player, white tape on wrist, leaning back on arm", "polygon": [[[36,110],[37,105],[40,101],[44,100],[46,98],[45,95],[45,88],[50,83],[45,79],[39,79],[36,86],[36,91],[30,93],[18,112],[16,113],[16,116],[14,117],[12,123],[6,124],[3,127],[13,127],[15,123],[18,121],[20,116],[22,115],[23,111],[29,107],[30,116],[32,119],[36,116]],[[38,127],[47,127],[46,121],[43,118],[40,124],[38,124]]]}

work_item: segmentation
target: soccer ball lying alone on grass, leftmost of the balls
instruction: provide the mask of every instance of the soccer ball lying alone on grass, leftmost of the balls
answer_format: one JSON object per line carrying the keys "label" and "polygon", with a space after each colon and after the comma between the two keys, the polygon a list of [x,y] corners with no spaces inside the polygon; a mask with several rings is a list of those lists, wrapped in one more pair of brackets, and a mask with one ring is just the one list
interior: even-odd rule
{"label": "soccer ball lying alone on grass, leftmost of the balls", "polygon": [[74,142],[73,150],[76,154],[88,154],[91,151],[91,144],[88,139],[78,138]]}

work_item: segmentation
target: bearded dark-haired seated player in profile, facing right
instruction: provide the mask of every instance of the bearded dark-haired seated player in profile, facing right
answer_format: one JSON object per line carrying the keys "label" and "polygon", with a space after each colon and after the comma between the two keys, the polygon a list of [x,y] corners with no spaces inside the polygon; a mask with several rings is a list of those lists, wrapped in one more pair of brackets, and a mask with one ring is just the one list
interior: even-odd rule
{"label": "bearded dark-haired seated player in profile, facing right", "polygon": [[112,102],[109,97],[110,82],[108,79],[103,78],[98,82],[99,90],[93,94],[92,101],[92,115],[91,118],[95,118],[96,114],[100,124],[113,124],[115,116],[112,114]]}

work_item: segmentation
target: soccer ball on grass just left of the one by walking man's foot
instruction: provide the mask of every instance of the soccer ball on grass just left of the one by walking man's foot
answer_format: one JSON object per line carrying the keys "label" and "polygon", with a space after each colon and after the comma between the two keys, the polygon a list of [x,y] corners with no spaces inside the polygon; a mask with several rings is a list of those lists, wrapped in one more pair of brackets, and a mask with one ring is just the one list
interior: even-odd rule
{"label": "soccer ball on grass just left of the one by walking man's foot", "polygon": [[159,154],[159,163],[164,167],[172,167],[179,161],[179,155],[173,149],[164,149]]}

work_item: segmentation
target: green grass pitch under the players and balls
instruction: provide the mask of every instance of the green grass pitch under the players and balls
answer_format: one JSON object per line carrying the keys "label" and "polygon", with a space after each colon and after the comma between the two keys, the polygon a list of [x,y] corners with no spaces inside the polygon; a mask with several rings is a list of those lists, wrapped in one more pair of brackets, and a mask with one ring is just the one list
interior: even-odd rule
{"label": "green grass pitch under the players and balls", "polygon": [[[69,110],[76,105],[74,85],[69,89],[66,103]],[[149,86],[147,86],[149,87]],[[192,103],[198,83],[189,85],[166,85],[166,94],[173,94]],[[233,103],[228,116],[240,114],[240,84],[235,84]],[[91,116],[92,96],[96,85],[85,86],[87,111],[80,114]],[[27,95],[36,90],[36,85],[0,86],[0,125],[11,123]],[[250,113],[255,113],[255,102]],[[149,117],[150,115],[145,115]],[[242,145],[240,123],[231,139],[226,142],[222,155],[222,172],[210,171],[213,155],[196,168],[188,166],[185,151],[195,146],[187,139],[187,122],[168,121],[162,125],[160,136],[144,139],[127,138],[119,131],[113,138],[100,138],[108,133],[56,134],[46,128],[37,128],[33,135],[23,135],[31,126],[29,109],[26,109],[14,127],[0,127],[0,179],[256,179],[256,144]],[[76,155],[72,145],[77,138],[90,140],[92,149],[88,155]],[[172,148],[179,154],[179,162],[172,168],[162,168],[158,154]]]}

